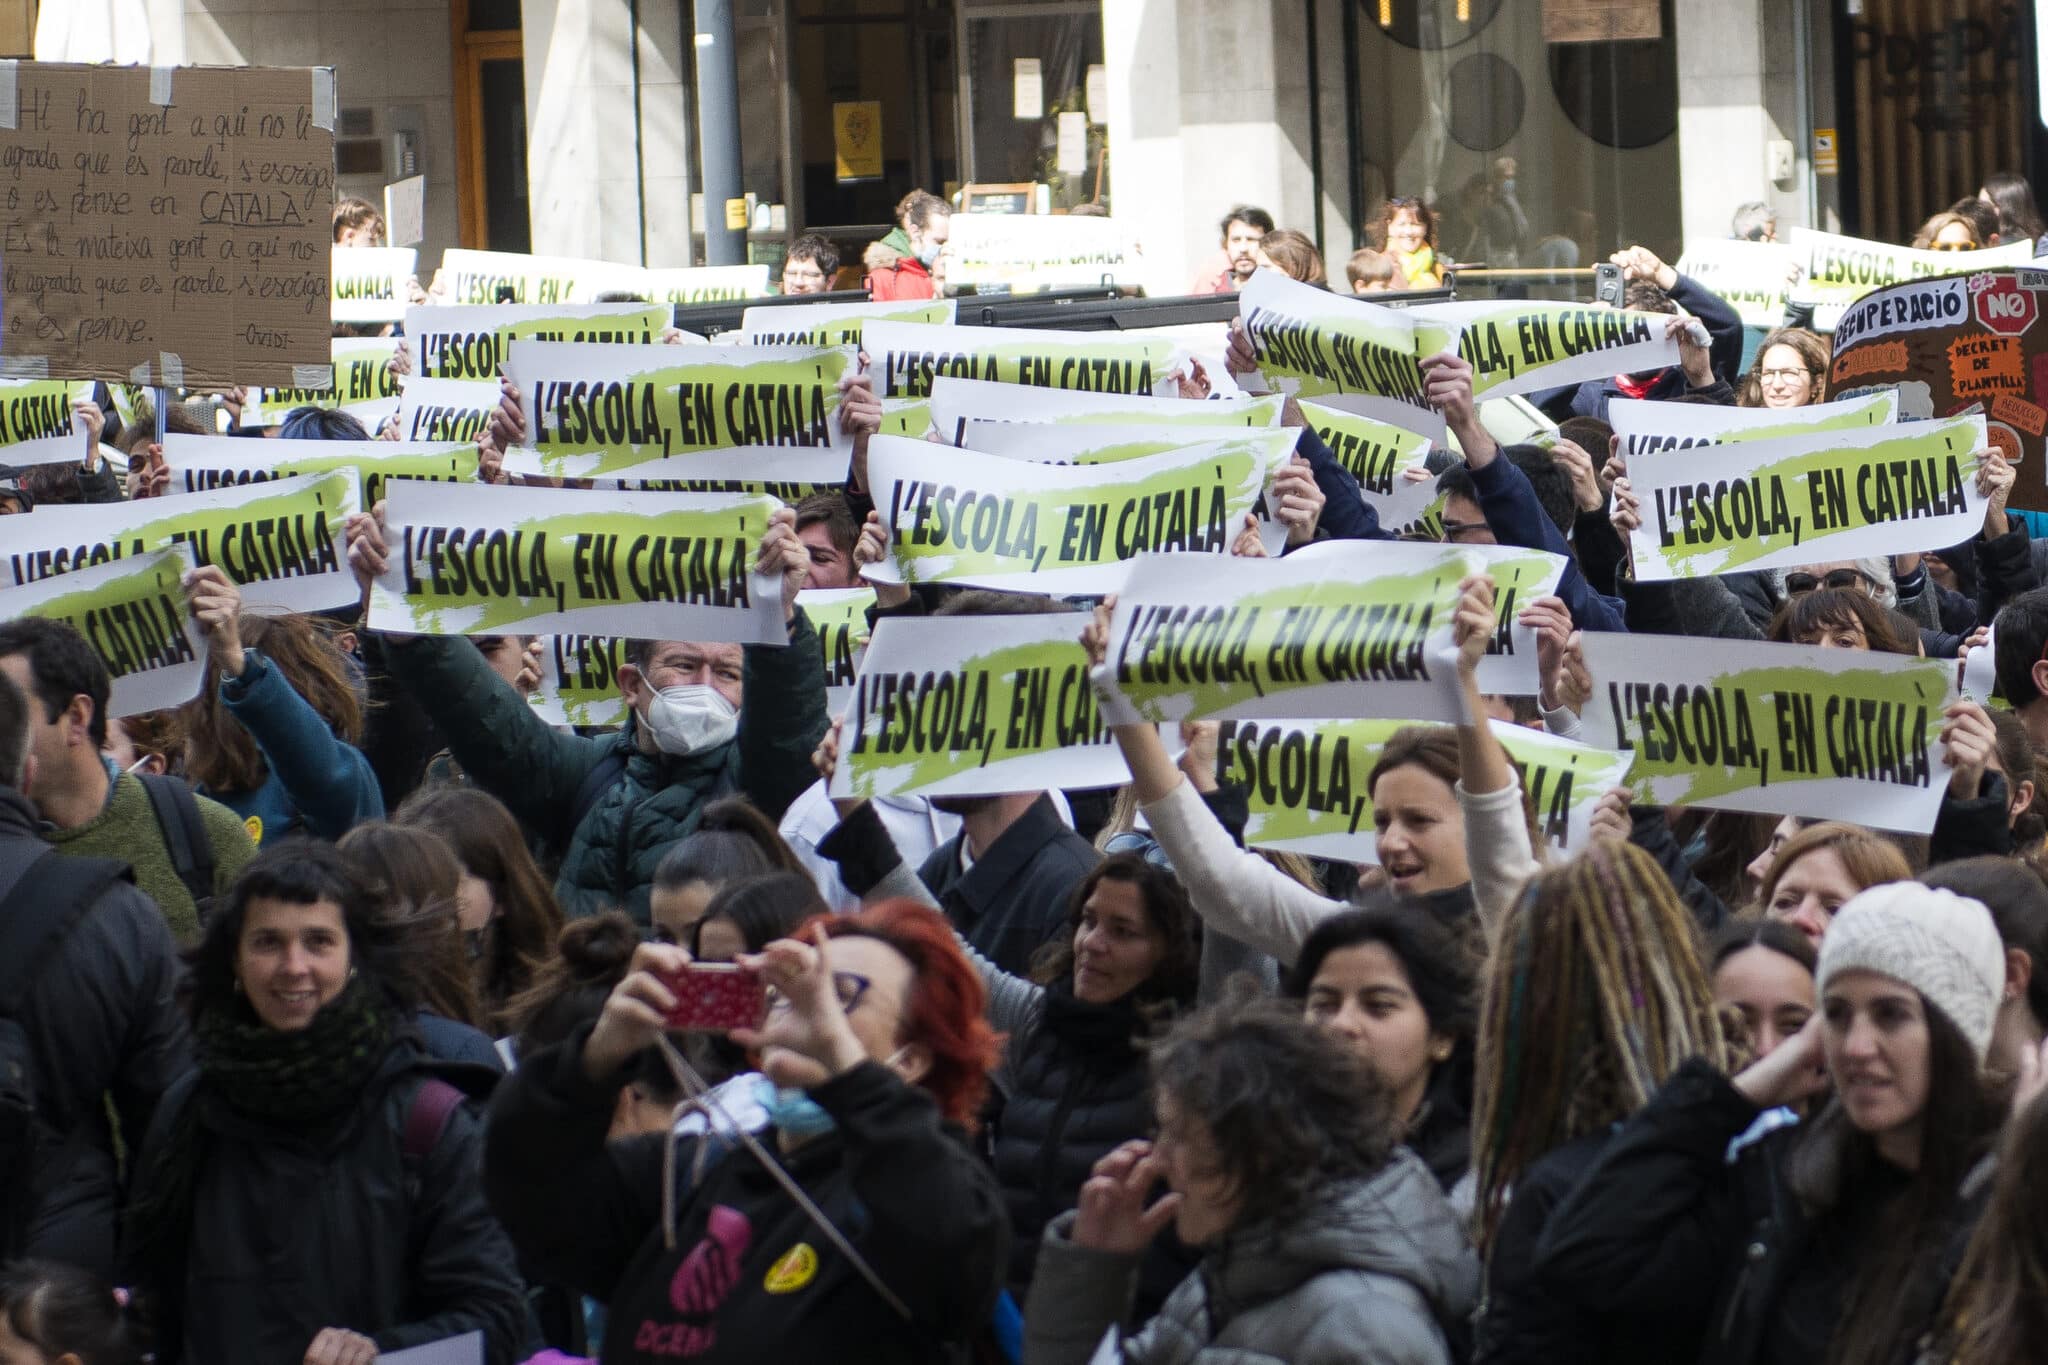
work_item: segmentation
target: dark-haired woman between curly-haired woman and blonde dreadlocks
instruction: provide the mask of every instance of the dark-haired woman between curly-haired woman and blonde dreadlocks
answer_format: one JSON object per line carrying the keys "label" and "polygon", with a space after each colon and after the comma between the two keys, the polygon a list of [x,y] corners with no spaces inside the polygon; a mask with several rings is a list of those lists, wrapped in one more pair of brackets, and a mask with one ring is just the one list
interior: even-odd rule
{"label": "dark-haired woman between curly-haired woman and blonde dreadlocks", "polygon": [[[1378,1074],[1403,1142],[1452,1195],[1473,1164],[1479,974],[1464,943],[1423,915],[1348,911],[1317,925],[1282,990]],[[1470,1191],[1452,1201],[1468,1209]]]}

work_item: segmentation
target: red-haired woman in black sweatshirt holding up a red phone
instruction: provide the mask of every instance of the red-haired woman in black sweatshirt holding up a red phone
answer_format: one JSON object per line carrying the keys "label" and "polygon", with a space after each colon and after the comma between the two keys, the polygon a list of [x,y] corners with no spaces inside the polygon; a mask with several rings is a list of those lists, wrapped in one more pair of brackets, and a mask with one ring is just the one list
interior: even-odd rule
{"label": "red-haired woman in black sweatshirt holding up a red phone", "polygon": [[688,964],[643,943],[594,1025],[498,1087],[485,1191],[528,1273],[608,1304],[606,1365],[958,1359],[1010,1224],[967,1144],[997,1038],[952,929],[891,900],[741,958],[770,1009],[733,1040],[760,1056],[780,1171],[729,1134],[604,1140]]}

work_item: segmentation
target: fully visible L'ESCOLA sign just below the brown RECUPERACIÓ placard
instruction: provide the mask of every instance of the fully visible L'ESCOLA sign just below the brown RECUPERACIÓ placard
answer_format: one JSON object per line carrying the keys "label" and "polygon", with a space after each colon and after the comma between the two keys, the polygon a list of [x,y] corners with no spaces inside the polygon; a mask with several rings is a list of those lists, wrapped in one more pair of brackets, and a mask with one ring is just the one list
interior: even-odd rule
{"label": "fully visible L'ESCOLA sign just below the brown RECUPERACI\u00d3 placard", "polygon": [[1982,417],[1909,422],[1628,463],[1636,579],[1792,569],[1960,544],[1985,524]]}

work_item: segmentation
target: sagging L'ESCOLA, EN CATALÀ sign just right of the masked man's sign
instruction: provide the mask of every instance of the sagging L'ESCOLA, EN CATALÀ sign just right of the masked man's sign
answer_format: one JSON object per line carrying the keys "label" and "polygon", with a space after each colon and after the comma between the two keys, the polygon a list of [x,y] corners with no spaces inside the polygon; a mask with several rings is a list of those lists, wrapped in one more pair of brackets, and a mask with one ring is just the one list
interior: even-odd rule
{"label": "sagging L'ESCOLA, EN CATAL\u00c0 sign just right of the masked man's sign", "polygon": [[874,583],[1116,591],[1147,551],[1229,555],[1292,442],[1272,432],[1118,465],[1030,465],[922,440],[868,442],[889,557]]}

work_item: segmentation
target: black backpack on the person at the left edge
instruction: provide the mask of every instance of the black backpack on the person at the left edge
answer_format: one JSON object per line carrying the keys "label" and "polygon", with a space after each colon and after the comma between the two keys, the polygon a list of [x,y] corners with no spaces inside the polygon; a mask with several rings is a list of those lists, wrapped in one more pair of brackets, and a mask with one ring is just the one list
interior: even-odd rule
{"label": "black backpack on the person at the left edge", "polygon": [[16,1015],[51,954],[127,876],[127,864],[111,857],[49,849],[0,898],[0,1261],[23,1254],[37,1197],[55,1183],[45,1158],[78,1140],[55,1134],[37,1105],[35,1054]]}

